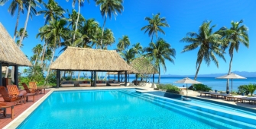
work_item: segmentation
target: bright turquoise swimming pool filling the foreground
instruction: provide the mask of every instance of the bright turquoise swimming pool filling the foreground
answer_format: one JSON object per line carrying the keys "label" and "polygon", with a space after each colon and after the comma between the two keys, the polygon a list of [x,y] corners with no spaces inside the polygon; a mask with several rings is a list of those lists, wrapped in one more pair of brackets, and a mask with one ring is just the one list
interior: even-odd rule
{"label": "bright turquoise swimming pool filling the foreground", "polygon": [[18,128],[256,128],[176,101],[134,89],[55,91]]}

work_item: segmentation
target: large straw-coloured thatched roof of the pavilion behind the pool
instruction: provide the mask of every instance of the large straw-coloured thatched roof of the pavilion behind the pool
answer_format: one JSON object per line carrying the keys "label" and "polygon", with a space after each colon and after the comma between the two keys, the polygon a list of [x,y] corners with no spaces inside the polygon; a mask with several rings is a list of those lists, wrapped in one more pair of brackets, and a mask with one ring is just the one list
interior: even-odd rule
{"label": "large straw-coloured thatched roof of the pavilion behind the pool", "polygon": [[130,71],[130,66],[115,50],[68,47],[50,65],[66,71]]}

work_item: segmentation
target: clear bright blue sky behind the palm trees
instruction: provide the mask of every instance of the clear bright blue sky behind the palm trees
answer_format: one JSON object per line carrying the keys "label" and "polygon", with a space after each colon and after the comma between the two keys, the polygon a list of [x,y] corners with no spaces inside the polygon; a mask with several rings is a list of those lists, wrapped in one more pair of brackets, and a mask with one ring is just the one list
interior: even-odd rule
{"label": "clear bright blue sky behind the palm trees", "polygon": [[[11,17],[8,13],[8,6],[11,0],[4,5],[0,6],[0,22],[5,26],[13,36],[15,30],[16,17]],[[44,1],[47,2],[47,1]],[[62,8],[72,10],[72,1],[66,2],[64,0],[57,0]],[[166,61],[167,71],[165,74],[179,74],[179,75],[193,75],[196,73],[196,55],[198,49],[191,52],[180,53],[183,47],[188,43],[180,42],[186,33],[198,32],[199,26],[205,20],[212,20],[212,25],[216,24],[215,31],[220,27],[230,27],[231,21],[244,20],[244,23],[249,28],[250,47],[247,49],[245,46],[240,46],[238,53],[235,52],[232,71],[255,71],[256,60],[256,17],[253,12],[256,12],[256,1],[247,0],[182,0],[182,1],[170,1],[170,0],[125,0],[123,4],[125,10],[122,14],[118,14],[112,19],[107,19],[105,27],[111,29],[114,32],[115,44],[108,49],[115,49],[118,42],[118,38],[123,35],[128,35],[131,40],[131,44],[141,42],[143,47],[148,46],[151,38],[141,31],[141,27],[147,25],[147,21],[144,17],[152,17],[152,14],[160,13],[161,17],[166,17],[167,23],[170,27],[163,28],[166,35],[160,34],[159,37],[165,39],[170,43],[172,48],[176,49],[177,55],[174,59],[175,64],[171,64]],[[43,5],[37,10],[44,9]],[[77,10],[77,4],[76,8]],[[24,20],[26,17],[26,11],[21,14],[18,28],[24,27]],[[103,24],[103,18],[99,11],[99,6],[95,5],[95,2],[90,0],[90,4],[87,2],[81,8],[81,13],[86,19],[95,18],[100,26]],[[67,13],[66,13],[67,15]],[[38,43],[43,44],[40,39],[36,39],[38,29],[44,26],[44,17],[34,16],[28,21],[28,39],[24,40],[24,47],[22,51],[29,57],[33,55],[31,49]],[[154,37],[154,39],[156,39]],[[58,49],[57,53],[60,49]],[[214,63],[211,63],[209,67],[203,62],[201,65],[199,74],[217,74],[227,73],[229,55],[225,54],[227,62],[219,58],[219,68]],[[163,73],[163,72],[162,72]],[[163,73],[164,74],[164,73]]]}

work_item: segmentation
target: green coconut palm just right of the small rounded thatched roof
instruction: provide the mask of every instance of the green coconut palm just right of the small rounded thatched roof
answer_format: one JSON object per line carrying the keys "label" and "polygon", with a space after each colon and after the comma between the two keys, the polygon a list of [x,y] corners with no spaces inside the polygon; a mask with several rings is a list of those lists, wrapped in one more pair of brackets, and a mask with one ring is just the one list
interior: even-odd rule
{"label": "green coconut palm just right of the small rounded thatched roof", "polygon": [[168,42],[161,38],[157,39],[157,42],[155,43],[151,42],[149,47],[145,48],[144,51],[147,52],[147,57],[153,58],[154,65],[158,68],[159,71],[157,83],[160,83],[160,65],[163,66],[164,72],[167,71],[165,60],[167,59],[174,64],[173,58],[175,58],[176,51],[175,49],[171,48]]}

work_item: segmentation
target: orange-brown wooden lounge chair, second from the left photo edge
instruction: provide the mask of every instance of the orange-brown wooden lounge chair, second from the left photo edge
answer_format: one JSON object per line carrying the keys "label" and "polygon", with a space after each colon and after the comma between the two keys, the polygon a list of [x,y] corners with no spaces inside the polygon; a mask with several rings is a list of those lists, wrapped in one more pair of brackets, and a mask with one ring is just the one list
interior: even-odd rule
{"label": "orange-brown wooden lounge chair, second from the left photo edge", "polygon": [[24,98],[24,103],[26,103],[26,101],[28,102],[28,96],[33,96],[34,102],[34,96],[36,95],[35,93],[20,93],[16,85],[8,85],[7,90],[9,94],[14,93],[14,95],[22,96]]}

